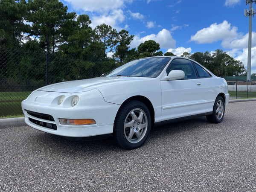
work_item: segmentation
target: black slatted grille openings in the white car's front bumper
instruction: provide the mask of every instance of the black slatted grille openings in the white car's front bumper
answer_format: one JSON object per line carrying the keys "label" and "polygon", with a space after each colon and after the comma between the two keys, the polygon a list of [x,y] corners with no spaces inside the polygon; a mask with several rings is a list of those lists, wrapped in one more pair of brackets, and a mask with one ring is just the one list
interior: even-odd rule
{"label": "black slatted grille openings in the white car's front bumper", "polygon": [[[37,120],[37,119],[33,119],[33,118],[29,117],[29,121],[34,123],[35,125],[39,125],[41,127],[57,130],[57,126],[56,126],[54,119],[51,115],[47,115],[44,113],[37,113],[37,112],[33,112],[33,111],[27,111],[27,110],[26,110],[26,112],[30,116],[41,119],[41,120]],[[52,123],[45,122],[44,120],[51,121]]]}

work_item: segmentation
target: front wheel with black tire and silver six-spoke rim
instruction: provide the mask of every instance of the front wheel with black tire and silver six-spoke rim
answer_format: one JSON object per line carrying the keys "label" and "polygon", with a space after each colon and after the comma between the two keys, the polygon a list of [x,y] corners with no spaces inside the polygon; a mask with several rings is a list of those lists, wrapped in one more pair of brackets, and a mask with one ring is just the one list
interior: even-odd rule
{"label": "front wheel with black tire and silver six-spoke rim", "polygon": [[145,104],[128,101],[119,109],[113,128],[113,139],[125,149],[142,146],[151,129],[151,116]]}

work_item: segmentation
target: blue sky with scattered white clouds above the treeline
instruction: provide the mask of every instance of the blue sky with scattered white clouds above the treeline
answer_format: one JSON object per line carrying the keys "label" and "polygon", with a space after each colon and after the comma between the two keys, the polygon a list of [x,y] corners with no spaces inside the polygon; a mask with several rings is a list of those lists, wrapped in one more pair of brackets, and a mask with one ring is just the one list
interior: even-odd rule
{"label": "blue sky with scattered white clouds above the treeline", "polygon": [[[161,51],[213,52],[222,49],[247,69],[249,9],[245,0],[61,0],[68,12],[87,14],[91,27],[105,23],[134,35],[131,48],[147,40]],[[256,3],[253,3],[256,9]],[[255,15],[256,16],[256,15]],[[256,17],[252,19],[251,73],[256,73]]]}

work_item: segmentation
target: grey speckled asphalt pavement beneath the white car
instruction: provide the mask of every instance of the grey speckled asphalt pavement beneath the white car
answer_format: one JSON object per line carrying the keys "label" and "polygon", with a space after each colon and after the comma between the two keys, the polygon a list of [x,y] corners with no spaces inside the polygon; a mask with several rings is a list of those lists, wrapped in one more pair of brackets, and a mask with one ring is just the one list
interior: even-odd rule
{"label": "grey speckled asphalt pavement beneath the white car", "polygon": [[256,191],[256,101],[151,130],[143,147],[0,129],[0,191]]}

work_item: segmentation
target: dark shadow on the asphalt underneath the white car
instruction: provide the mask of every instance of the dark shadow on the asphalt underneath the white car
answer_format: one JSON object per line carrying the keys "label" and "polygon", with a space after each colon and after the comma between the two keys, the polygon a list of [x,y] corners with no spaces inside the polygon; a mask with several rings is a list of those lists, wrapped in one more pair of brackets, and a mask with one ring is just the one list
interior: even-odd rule
{"label": "dark shadow on the asphalt underneath the white car", "polygon": [[[205,117],[198,117],[195,119],[184,120],[181,122],[174,122],[169,123],[166,125],[161,125],[157,127],[152,127],[150,135],[148,137],[147,142],[142,146],[143,150],[151,150],[151,143],[157,143],[160,140],[168,137],[171,138],[175,134],[179,134],[180,132],[184,131],[192,131],[196,130],[198,127],[204,125],[209,125],[210,123],[207,121]],[[34,149],[36,148],[47,148],[47,150],[52,154],[76,154],[76,153],[83,153],[83,154],[99,154],[99,153],[109,153],[109,152],[124,152],[127,151],[125,149],[119,148],[113,142],[112,138],[109,137],[107,139],[102,140],[81,140],[81,141],[74,141],[69,140],[64,137],[48,134],[45,132],[41,132],[35,130],[36,134],[33,136],[33,144]],[[32,137],[32,136],[31,136]],[[31,140],[31,137],[29,140]],[[149,142],[148,142],[149,141]],[[140,148],[134,149],[140,150]],[[131,151],[134,151],[131,150]]]}

